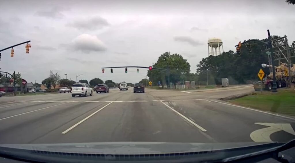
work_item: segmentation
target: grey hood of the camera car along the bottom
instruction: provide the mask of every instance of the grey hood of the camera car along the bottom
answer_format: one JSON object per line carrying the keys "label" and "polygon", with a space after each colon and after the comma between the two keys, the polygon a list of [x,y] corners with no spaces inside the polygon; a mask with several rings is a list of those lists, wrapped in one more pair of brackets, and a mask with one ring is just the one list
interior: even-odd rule
{"label": "grey hood of the camera car along the bottom", "polygon": [[257,145],[261,147],[267,146],[269,148],[269,146],[279,146],[281,143],[92,142],[64,144],[0,144],[0,148],[7,147],[34,151],[85,154],[164,154],[223,150]]}

